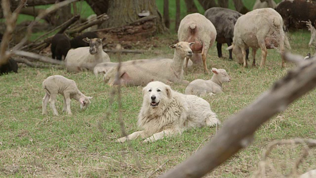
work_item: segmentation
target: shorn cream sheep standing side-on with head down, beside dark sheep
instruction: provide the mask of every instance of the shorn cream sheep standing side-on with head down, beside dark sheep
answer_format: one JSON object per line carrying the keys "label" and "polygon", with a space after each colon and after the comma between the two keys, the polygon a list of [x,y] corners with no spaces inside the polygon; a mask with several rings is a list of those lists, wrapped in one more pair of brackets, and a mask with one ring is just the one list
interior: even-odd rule
{"label": "shorn cream sheep standing side-on with head down, beside dark sheep", "polygon": [[[285,35],[282,24],[282,17],[273,8],[260,8],[250,11],[237,19],[234,29],[233,45],[227,49],[233,49],[239,63],[243,62],[243,67],[247,67],[245,49],[248,47],[252,48],[252,66],[256,66],[256,50],[260,47],[260,67],[264,67],[267,49],[279,45],[281,53],[284,51]],[[284,67],[283,55],[281,55],[281,58],[282,67]]]}

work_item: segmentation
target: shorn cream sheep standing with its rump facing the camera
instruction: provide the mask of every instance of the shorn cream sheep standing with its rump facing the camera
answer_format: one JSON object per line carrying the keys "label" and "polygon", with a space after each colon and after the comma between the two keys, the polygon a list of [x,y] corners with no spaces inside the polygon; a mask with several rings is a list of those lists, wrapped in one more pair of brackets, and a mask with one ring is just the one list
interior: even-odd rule
{"label": "shorn cream sheep standing with its rump facing the camera", "polygon": [[[206,66],[206,55],[209,47],[211,47],[216,39],[216,29],[211,21],[209,21],[204,15],[199,13],[193,13],[185,16],[179,25],[178,30],[179,42],[195,42],[195,45],[191,46],[194,56],[191,58],[194,64],[199,63],[201,53],[204,72],[208,73]],[[186,61],[186,67],[189,58]]]}

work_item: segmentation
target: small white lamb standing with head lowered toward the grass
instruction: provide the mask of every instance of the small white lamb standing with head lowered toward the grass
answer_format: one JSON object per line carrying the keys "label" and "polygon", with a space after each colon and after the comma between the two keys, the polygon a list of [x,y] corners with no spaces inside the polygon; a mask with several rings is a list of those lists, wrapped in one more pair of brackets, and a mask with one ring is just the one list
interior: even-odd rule
{"label": "small white lamb standing with head lowered toward the grass", "polygon": [[80,102],[80,109],[82,110],[85,110],[91,103],[90,99],[92,97],[82,94],[77,88],[75,81],[69,80],[64,76],[49,76],[47,77],[47,79],[44,80],[42,86],[46,91],[46,94],[42,100],[43,115],[47,114],[46,107],[47,102],[49,101],[49,105],[53,110],[53,115],[58,116],[58,112],[55,107],[57,94],[61,94],[64,96],[63,112],[67,112],[70,115],[72,114],[70,109],[70,101],[72,98]]}

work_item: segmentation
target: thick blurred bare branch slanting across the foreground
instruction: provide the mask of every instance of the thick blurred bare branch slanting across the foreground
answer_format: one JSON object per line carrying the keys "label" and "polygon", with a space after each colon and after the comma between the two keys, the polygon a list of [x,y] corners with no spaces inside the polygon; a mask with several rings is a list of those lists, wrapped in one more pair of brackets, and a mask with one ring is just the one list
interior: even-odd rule
{"label": "thick blurred bare branch slanting across the foreground", "polygon": [[[289,53],[285,53],[287,59]],[[224,163],[253,140],[254,132],[276,113],[284,111],[295,99],[316,87],[316,59],[302,62],[223,127],[197,154],[192,155],[161,178],[200,178]]]}

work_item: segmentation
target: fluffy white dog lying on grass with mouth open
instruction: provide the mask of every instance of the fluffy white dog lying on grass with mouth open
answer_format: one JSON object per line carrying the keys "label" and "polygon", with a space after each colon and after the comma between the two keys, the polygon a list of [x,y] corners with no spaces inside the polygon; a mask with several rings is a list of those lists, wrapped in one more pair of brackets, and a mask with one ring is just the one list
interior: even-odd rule
{"label": "fluffy white dog lying on grass with mouth open", "polygon": [[148,137],[144,142],[154,142],[171,134],[181,134],[194,127],[219,124],[216,114],[204,99],[173,91],[162,82],[151,82],[143,89],[143,106],[138,116],[138,125],[144,129],[119,138],[123,143],[139,136]]}

